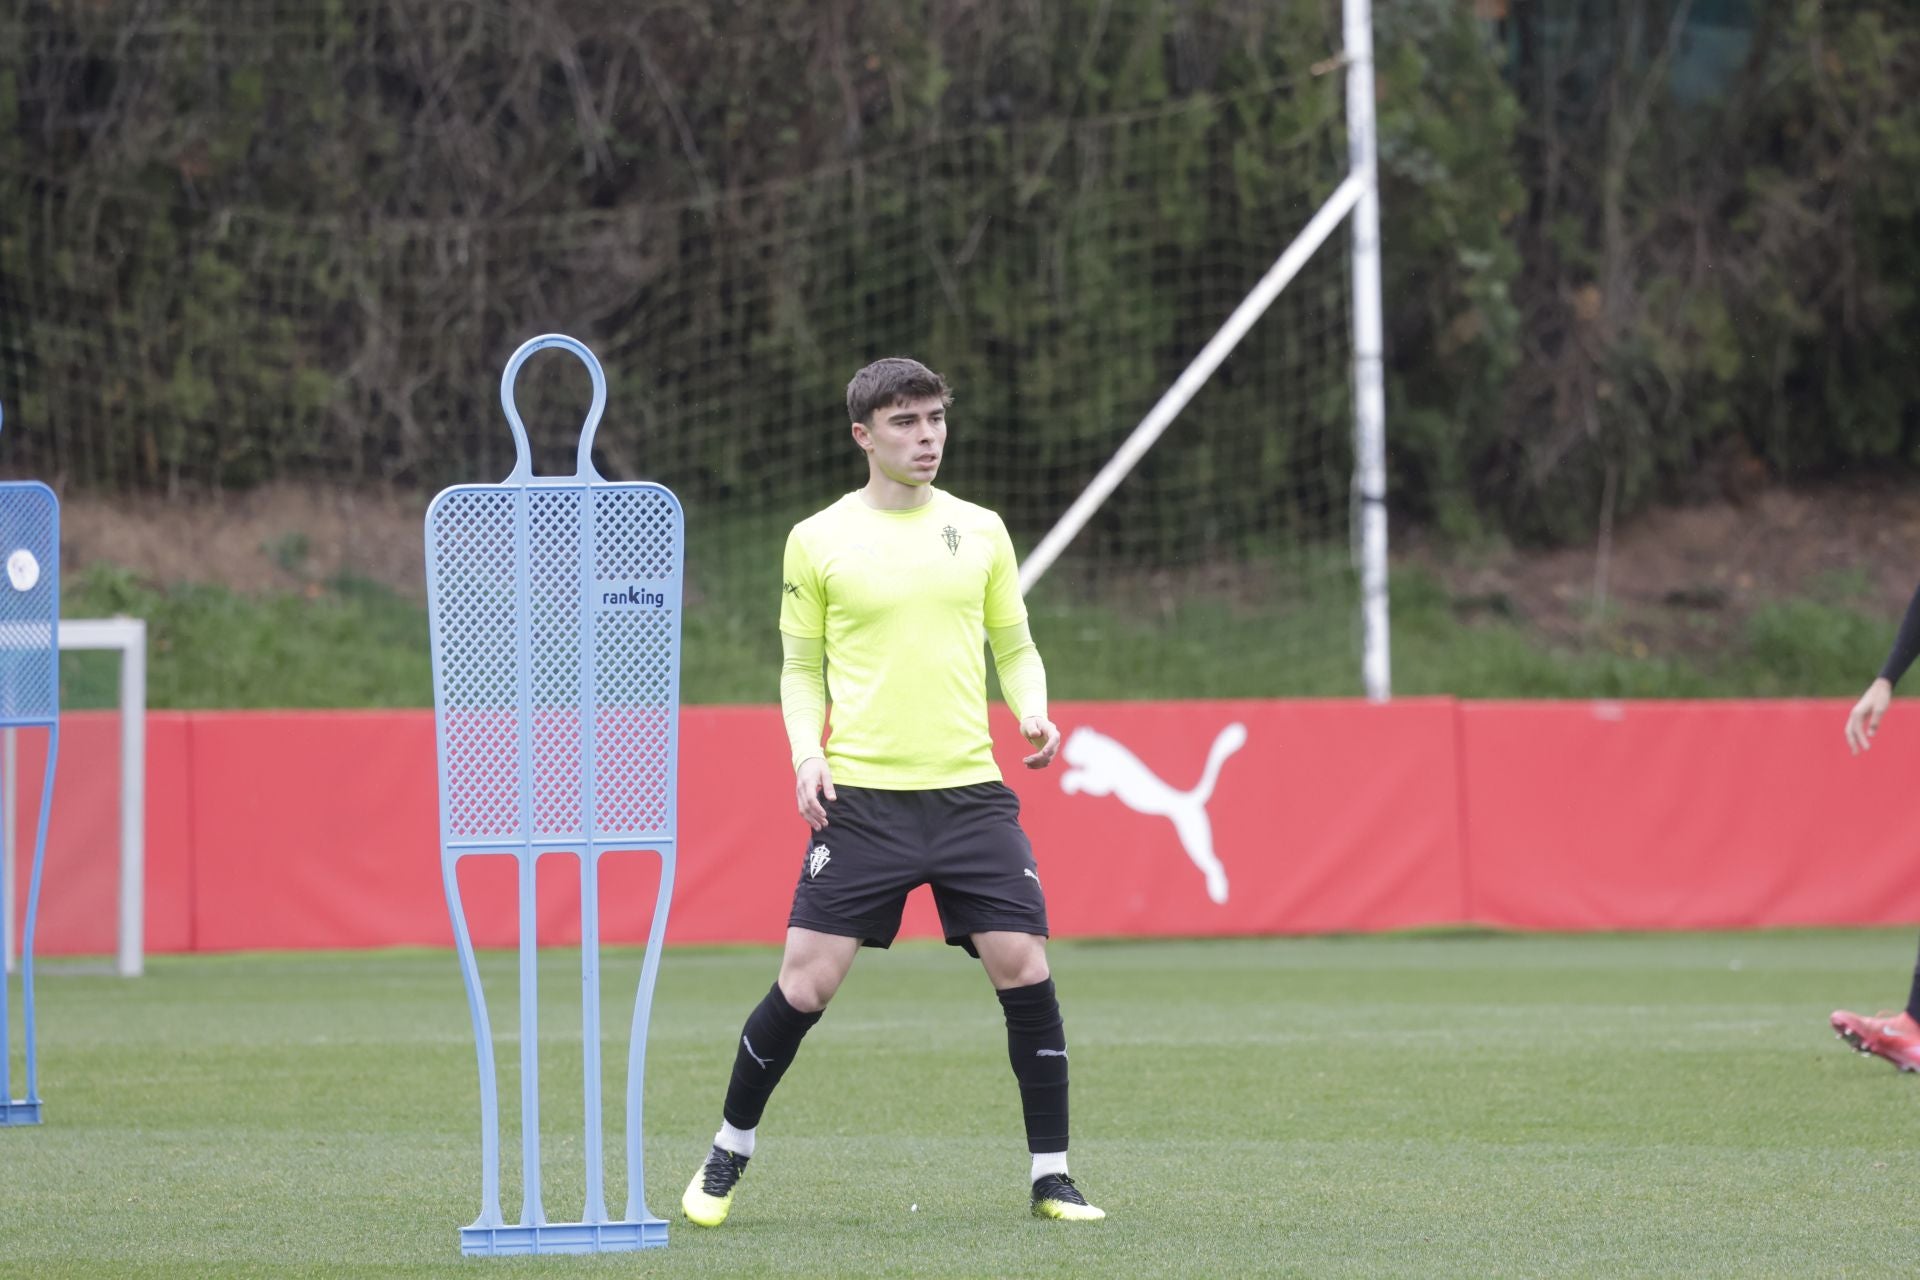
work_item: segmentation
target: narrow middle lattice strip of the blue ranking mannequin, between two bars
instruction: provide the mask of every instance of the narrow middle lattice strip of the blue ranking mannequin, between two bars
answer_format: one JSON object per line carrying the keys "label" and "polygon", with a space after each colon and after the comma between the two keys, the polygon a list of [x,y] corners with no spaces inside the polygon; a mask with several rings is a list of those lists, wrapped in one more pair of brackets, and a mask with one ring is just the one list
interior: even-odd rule
{"label": "narrow middle lattice strip of the blue ranking mannequin, between two bars", "polygon": [[580,791],[580,489],[530,489],[528,603],[534,631],[534,831],[586,833]]}

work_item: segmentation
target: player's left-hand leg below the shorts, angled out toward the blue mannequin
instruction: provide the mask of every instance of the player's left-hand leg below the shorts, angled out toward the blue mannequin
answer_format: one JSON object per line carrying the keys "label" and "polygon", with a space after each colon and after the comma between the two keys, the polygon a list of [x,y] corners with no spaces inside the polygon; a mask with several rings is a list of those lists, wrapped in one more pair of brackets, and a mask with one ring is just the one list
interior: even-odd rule
{"label": "player's left-hand leg below the shorts, angled out toward the blue mannequin", "polygon": [[712,1151],[693,1174],[682,1211],[699,1226],[718,1226],[733,1205],[733,1186],[753,1157],[755,1128],[774,1086],[793,1065],[801,1040],[820,1021],[833,992],[852,969],[860,938],[814,929],[787,929],[780,979],[747,1015],[733,1050],[733,1075],[720,1111]]}

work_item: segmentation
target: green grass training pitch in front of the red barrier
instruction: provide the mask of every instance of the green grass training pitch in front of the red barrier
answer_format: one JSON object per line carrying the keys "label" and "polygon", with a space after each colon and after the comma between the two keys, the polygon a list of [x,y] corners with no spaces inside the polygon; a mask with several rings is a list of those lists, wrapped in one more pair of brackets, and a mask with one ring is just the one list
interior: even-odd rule
{"label": "green grass training pitch in front of the red barrier", "polygon": [[[1920,1079],[1845,1052],[1826,1013],[1897,1006],[1912,950],[1910,931],[1062,942],[1073,1171],[1112,1215],[1071,1224],[1025,1213],[977,965],[902,944],[864,954],[810,1036],[726,1226],[507,1261],[457,1251],[480,1125],[451,954],[157,958],[140,981],[46,961],[46,1125],[0,1130],[0,1276],[1887,1274],[1920,1245]],[[660,1217],[774,961],[664,958]],[[486,971],[513,1100],[513,958]],[[605,971],[618,1151],[614,988],[637,956]],[[578,990],[574,956],[545,954],[555,1221],[582,1197]]]}

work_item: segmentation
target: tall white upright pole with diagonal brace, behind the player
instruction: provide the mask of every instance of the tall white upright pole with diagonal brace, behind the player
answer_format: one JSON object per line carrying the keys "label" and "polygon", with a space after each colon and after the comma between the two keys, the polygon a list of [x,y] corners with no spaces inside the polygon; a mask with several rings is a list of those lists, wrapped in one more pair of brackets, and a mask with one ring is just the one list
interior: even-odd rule
{"label": "tall white upright pole with diagonal brace, behind the player", "polygon": [[1020,589],[1021,593],[1031,591],[1033,583],[1052,568],[1066,545],[1154,447],[1154,441],[1173,424],[1194,393],[1206,386],[1221,361],[1281,296],[1281,290],[1300,274],[1300,269],[1340,226],[1340,221],[1352,217],[1354,503],[1357,507],[1354,560],[1359,568],[1361,683],[1367,699],[1384,702],[1392,697],[1392,654],[1386,608],[1386,388],[1380,359],[1384,342],[1380,328],[1380,177],[1373,111],[1373,0],[1342,0],[1340,10],[1346,48],[1336,63],[1346,67],[1346,180],[1327,198],[1327,203],[1319,207],[1319,213],[1294,242],[1281,251],[1279,261],[1267,269],[1254,292],[1235,307],[1219,332],[1140,418],[1125,443],[1092,478],[1092,484],[1073,499],[1066,514],[1027,555],[1020,566]]}

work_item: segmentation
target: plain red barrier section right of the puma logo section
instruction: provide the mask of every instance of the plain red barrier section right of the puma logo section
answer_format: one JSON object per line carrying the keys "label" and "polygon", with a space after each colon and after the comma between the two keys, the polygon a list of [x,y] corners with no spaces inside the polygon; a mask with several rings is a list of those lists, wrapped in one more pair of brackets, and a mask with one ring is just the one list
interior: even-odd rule
{"label": "plain red barrier section right of the puma logo section", "polygon": [[1843,702],[1461,702],[1467,913],[1521,929],[1920,919],[1920,718]]}

